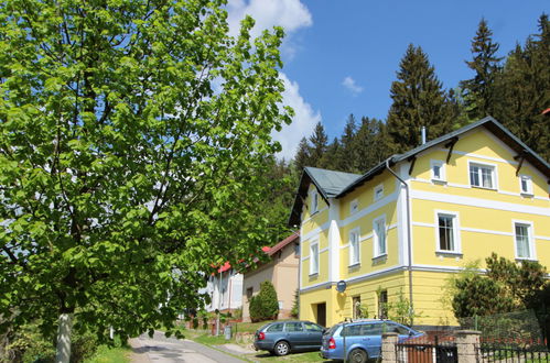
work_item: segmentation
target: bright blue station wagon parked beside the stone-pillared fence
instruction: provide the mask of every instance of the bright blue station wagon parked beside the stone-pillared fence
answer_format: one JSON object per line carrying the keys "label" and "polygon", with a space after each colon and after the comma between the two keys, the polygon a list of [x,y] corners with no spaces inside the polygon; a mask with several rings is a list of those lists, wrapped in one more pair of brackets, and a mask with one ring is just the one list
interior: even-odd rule
{"label": "bright blue station wagon parked beside the stone-pillared fence", "polygon": [[354,322],[341,322],[323,334],[321,355],[330,360],[364,363],[367,360],[378,359],[381,351],[382,332],[397,332],[399,340],[424,336],[409,327],[391,320],[365,319]]}

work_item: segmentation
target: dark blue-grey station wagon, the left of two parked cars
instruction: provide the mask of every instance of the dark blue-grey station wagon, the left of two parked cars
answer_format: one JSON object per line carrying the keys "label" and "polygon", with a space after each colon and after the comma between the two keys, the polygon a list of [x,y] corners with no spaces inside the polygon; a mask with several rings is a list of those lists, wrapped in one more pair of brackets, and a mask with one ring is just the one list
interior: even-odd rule
{"label": "dark blue-grey station wagon, the left of two parked cars", "polygon": [[256,331],[254,348],[276,355],[319,350],[324,331],[323,327],[311,321],[274,321]]}

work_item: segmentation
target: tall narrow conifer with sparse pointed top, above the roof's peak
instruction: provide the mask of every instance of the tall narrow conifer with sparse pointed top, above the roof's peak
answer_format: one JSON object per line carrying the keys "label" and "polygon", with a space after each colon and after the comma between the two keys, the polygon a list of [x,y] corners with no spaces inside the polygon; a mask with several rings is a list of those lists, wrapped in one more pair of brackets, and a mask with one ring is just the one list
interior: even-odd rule
{"label": "tall narrow conifer with sparse pointed top, above the roof's peak", "polygon": [[494,95],[494,84],[500,69],[500,57],[496,56],[498,43],[493,42],[493,32],[482,18],[475,37],[472,40],[472,61],[467,66],[475,72],[472,79],[461,81],[464,106],[470,121],[493,116],[498,107]]}

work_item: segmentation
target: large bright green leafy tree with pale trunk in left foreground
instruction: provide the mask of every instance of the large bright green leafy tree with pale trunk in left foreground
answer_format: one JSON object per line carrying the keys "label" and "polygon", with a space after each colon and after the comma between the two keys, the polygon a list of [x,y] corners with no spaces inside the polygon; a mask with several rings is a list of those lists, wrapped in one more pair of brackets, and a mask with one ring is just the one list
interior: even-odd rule
{"label": "large bright green leafy tree with pale trunk in left foreground", "polygon": [[[0,4],[0,316],[99,336],[170,330],[199,271],[263,241],[274,29],[224,0]],[[6,320],[4,320],[6,321]]]}

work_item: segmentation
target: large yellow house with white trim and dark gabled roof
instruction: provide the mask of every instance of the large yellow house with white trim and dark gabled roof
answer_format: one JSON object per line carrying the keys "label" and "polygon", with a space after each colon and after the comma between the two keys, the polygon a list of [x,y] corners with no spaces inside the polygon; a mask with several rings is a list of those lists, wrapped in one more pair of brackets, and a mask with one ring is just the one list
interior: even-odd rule
{"label": "large yellow house with white trim and dark gabled roof", "polygon": [[483,270],[495,252],[550,266],[549,180],[548,162],[492,118],[364,175],[306,167],[290,217],[300,318],[332,326],[357,306],[380,317],[406,298],[414,324],[455,324],[442,292],[467,262]]}

